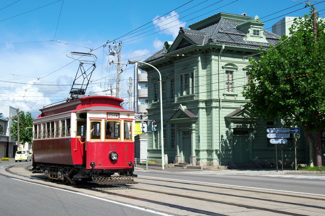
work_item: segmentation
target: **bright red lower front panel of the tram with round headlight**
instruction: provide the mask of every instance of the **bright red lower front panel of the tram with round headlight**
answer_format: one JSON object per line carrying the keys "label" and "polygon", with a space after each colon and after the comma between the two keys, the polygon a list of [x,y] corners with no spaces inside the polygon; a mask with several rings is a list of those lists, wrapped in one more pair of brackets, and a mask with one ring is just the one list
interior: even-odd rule
{"label": "bright red lower front panel of the tram with round headlight", "polygon": [[[134,142],[87,142],[86,169],[129,169],[134,164]],[[116,161],[110,159],[109,154],[118,155]]]}

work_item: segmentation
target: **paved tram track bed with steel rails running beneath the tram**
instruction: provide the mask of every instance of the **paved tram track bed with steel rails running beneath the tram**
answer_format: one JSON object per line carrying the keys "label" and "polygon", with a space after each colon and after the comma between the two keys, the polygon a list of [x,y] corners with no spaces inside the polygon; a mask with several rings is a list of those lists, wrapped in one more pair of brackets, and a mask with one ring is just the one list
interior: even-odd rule
{"label": "paved tram track bed with steel rails running beneath the tram", "polygon": [[[25,176],[25,175],[21,175],[19,173],[14,173],[11,172],[10,167],[6,168],[5,170],[11,174],[14,175],[18,175],[18,176],[23,176],[23,177],[28,177],[31,178],[30,176]],[[25,168],[25,170],[29,171],[27,168]],[[32,178],[31,178],[32,179]],[[40,179],[40,178],[35,178],[33,177],[33,179]],[[176,199],[190,199],[190,200],[195,200],[197,202],[209,202],[211,204],[222,204],[222,205],[226,205],[226,206],[235,206],[238,208],[245,208],[245,209],[249,209],[249,210],[257,210],[257,211],[262,211],[266,214],[266,212],[269,213],[275,213],[275,214],[281,214],[281,215],[291,215],[291,216],[307,216],[308,214],[298,214],[298,213],[294,213],[294,212],[290,212],[290,211],[283,211],[283,210],[278,210],[278,209],[272,209],[272,208],[265,208],[265,207],[258,207],[257,204],[256,205],[245,205],[245,204],[240,204],[237,202],[228,202],[228,201],[223,201],[222,196],[226,196],[226,197],[234,197],[234,198],[239,198],[239,199],[245,199],[245,200],[253,200],[253,201],[262,201],[262,202],[266,202],[269,203],[270,206],[272,206],[272,204],[277,203],[277,204],[283,204],[283,205],[288,205],[288,206],[294,206],[294,208],[289,208],[294,210],[295,208],[305,208],[307,210],[310,210],[310,213],[312,213],[312,210],[315,209],[320,209],[320,210],[325,210],[325,207],[322,206],[316,206],[316,205],[309,205],[309,204],[303,204],[303,203],[294,203],[294,202],[286,202],[286,201],[279,201],[279,200],[275,200],[275,199],[265,199],[265,198],[257,198],[257,197],[247,197],[247,196],[242,196],[242,195],[234,195],[234,194],[229,194],[229,193],[221,193],[221,192],[211,192],[208,190],[198,190],[198,189],[193,189],[193,188],[189,188],[189,187],[184,187],[184,182],[181,181],[171,181],[171,180],[159,180],[159,179],[146,179],[143,177],[138,177],[137,179],[141,179],[143,180],[142,182],[139,182],[138,186],[150,186],[150,187],[154,187],[154,189],[148,189],[149,187],[146,188],[142,188],[142,187],[137,187],[137,186],[126,186],[126,185],[114,185],[114,186],[100,186],[100,185],[96,185],[92,182],[88,182],[86,184],[84,183],[78,183],[75,186],[73,186],[74,189],[85,189],[85,190],[89,190],[89,191],[95,191],[95,192],[99,192],[99,193],[104,193],[107,195],[112,195],[112,196],[117,196],[117,197],[122,197],[122,198],[126,198],[126,199],[131,199],[131,200],[137,200],[137,201],[141,201],[144,203],[151,203],[151,204],[155,204],[155,205],[159,205],[159,206],[165,206],[165,207],[169,207],[169,208],[173,208],[173,209],[177,209],[177,210],[182,210],[182,211],[186,211],[186,212],[191,212],[194,214],[200,214],[200,215],[210,215],[210,216],[227,216],[227,213],[216,213],[216,212],[211,212],[208,211],[207,209],[204,209],[203,206],[201,205],[202,208],[198,208],[196,206],[196,208],[193,207],[186,207],[183,205],[177,205],[177,204],[172,204],[172,203],[168,203],[168,202],[163,202],[159,199],[156,199],[160,196],[157,196],[157,194],[160,195],[166,195],[166,196],[171,196],[173,198]],[[46,181],[46,180],[45,180]],[[145,181],[149,181],[149,182],[145,182]],[[160,183],[160,184],[159,184]],[[182,184],[179,187],[178,186],[170,186],[170,185],[164,185],[164,184]],[[294,197],[297,199],[306,199],[306,200],[318,200],[318,201],[325,201],[325,199],[322,198],[315,198],[315,197],[303,197],[303,196],[297,196],[297,195],[288,195],[288,194],[279,194],[279,193],[272,193],[272,192],[262,192],[262,191],[257,191],[257,190],[247,190],[247,189],[242,189],[242,188],[232,188],[232,187],[223,187],[223,186],[215,186],[215,185],[203,185],[203,184],[198,184],[198,183],[189,183],[189,182],[185,182],[186,186],[195,186],[195,187],[207,187],[207,188],[216,188],[216,189],[226,189],[226,190],[233,190],[233,191],[243,191],[243,192],[252,192],[252,193],[258,193],[258,194],[267,194],[267,195],[273,195],[273,196],[285,196],[285,197]],[[148,195],[148,197],[143,198],[141,196],[131,196],[131,195],[125,195],[125,194],[121,194],[122,190],[136,190],[136,191],[142,191],[142,192],[149,192],[149,193],[153,193],[154,195]],[[112,192],[112,190],[114,190],[115,192]],[[171,193],[169,191],[183,191],[184,193]],[[177,191],[176,191],[177,190]],[[185,194],[185,192],[194,192],[195,196],[188,196]],[[141,193],[139,193],[141,194]],[[142,193],[145,194],[145,193]],[[147,193],[146,193],[147,194]],[[201,196],[196,196],[197,194],[201,194]],[[210,195],[209,198],[203,198],[202,195]],[[213,197],[211,197],[211,195],[215,195]],[[216,197],[219,196],[219,197]],[[152,198],[151,198],[152,197]],[[213,198],[213,199],[210,199]],[[202,203],[202,204],[203,204]],[[199,205],[198,205],[199,206]],[[231,215],[231,214],[230,214]]]}

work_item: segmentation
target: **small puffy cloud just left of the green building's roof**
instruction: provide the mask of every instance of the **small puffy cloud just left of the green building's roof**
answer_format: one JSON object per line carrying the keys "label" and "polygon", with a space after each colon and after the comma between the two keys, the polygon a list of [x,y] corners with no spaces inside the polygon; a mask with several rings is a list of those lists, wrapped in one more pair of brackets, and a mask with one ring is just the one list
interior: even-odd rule
{"label": "small puffy cloud just left of the green building's roof", "polygon": [[178,35],[179,27],[185,26],[185,22],[182,23],[178,19],[179,14],[175,11],[171,11],[170,15],[162,16],[160,18],[158,17],[159,16],[154,17],[154,19],[152,20],[153,24],[156,27],[159,27],[159,30],[162,30],[163,33],[172,35],[173,38],[176,38],[176,36]]}

